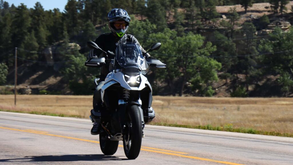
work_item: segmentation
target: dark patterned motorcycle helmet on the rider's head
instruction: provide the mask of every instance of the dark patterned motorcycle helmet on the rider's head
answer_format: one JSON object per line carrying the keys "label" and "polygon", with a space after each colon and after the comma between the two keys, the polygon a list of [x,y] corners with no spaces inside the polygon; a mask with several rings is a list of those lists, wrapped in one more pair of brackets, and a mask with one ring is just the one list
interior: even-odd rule
{"label": "dark patterned motorcycle helmet on the rider's head", "polygon": [[[114,27],[115,21],[125,21],[125,29],[116,29]],[[110,31],[112,31],[112,33],[114,33],[118,37],[123,37],[129,27],[130,16],[128,16],[127,11],[123,9],[112,9],[108,14],[108,22]]]}

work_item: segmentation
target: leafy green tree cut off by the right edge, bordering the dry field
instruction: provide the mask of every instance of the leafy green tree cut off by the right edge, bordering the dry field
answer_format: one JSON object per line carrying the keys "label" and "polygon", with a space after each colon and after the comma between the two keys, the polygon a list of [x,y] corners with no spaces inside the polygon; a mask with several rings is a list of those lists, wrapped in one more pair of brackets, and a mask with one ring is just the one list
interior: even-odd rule
{"label": "leafy green tree cut off by the right edge, bordering the dry field", "polygon": [[270,34],[269,39],[263,39],[259,45],[260,61],[265,75],[280,75],[277,79],[282,88],[283,95],[292,94],[293,91],[293,28],[285,33],[280,28]]}

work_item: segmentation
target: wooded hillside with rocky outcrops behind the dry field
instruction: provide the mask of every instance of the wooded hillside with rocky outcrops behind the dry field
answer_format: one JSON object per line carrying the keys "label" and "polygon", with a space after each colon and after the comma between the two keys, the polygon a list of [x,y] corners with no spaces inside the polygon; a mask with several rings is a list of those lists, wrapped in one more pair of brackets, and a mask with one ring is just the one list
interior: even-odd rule
{"label": "wooded hillside with rocky outcrops behind the dry field", "polygon": [[[76,3],[71,4],[73,5],[71,7],[80,5],[78,4],[79,2],[76,1]],[[270,38],[269,34],[280,28],[281,31],[279,33],[282,34],[275,36],[277,38],[283,35],[283,32],[290,31],[291,24],[293,23],[291,14],[293,1],[290,1],[286,5],[287,11],[283,15],[278,12],[273,13],[270,8],[271,4],[269,3],[253,4],[252,7],[247,9],[247,13],[245,13],[245,9],[241,5],[214,6],[215,11],[212,11],[212,7],[207,7],[205,9],[206,11],[201,13],[198,8],[194,9],[192,6],[189,8],[184,3],[182,2],[175,9],[172,9],[172,6],[170,7],[168,4],[166,6],[160,4],[162,7],[165,7],[164,11],[166,11],[163,17],[157,15],[156,18],[152,18],[150,15],[134,12],[136,18],[132,18],[132,23],[130,24],[130,30],[128,32],[136,36],[144,48],[148,48],[154,42],[166,44],[157,52],[158,54],[153,53],[152,55],[163,62],[166,61],[168,67],[174,67],[177,68],[176,70],[179,70],[179,72],[176,72],[176,70],[167,68],[166,72],[155,70],[150,72],[148,77],[154,87],[154,94],[209,95],[215,97],[229,97],[231,95],[241,97],[289,97],[293,95],[290,92],[293,87],[293,73],[290,73],[291,64],[289,69],[288,67],[284,67],[282,68],[283,70],[277,69],[277,71],[274,71],[274,68],[280,69],[284,65],[282,63],[276,63],[274,64],[275,66],[272,66],[272,63],[277,61],[275,59],[276,57],[272,56],[269,59],[271,61],[266,61],[267,56],[265,56],[266,54],[273,54],[275,52],[278,55],[277,53],[284,52],[284,49],[285,52],[291,51],[288,47],[282,47],[282,44],[280,47],[274,45],[274,41]],[[36,4],[36,6],[38,5],[40,4]],[[11,6],[11,11],[9,12],[13,14],[12,8],[13,6]],[[18,11],[20,8],[24,8],[24,6],[18,6],[15,11]],[[152,8],[154,13],[159,12],[154,6]],[[234,8],[235,10],[233,11],[232,9]],[[37,13],[35,10],[38,9],[31,9],[29,16]],[[5,11],[4,9],[2,10]],[[196,12],[193,13],[193,11]],[[100,33],[108,31],[108,28],[105,27],[106,21],[104,18],[94,19],[92,17],[90,22],[82,23],[83,20],[88,20],[85,16],[85,14],[88,14],[88,11],[76,11],[78,16],[74,19],[78,20],[76,22],[79,25],[78,27],[74,25],[74,22],[70,22],[74,19],[69,19],[67,13],[61,13],[60,11],[54,12],[55,14],[52,15],[50,11],[44,11],[43,17],[38,18],[39,20],[37,19],[37,21],[42,21],[41,19],[46,18],[47,20],[43,20],[43,22],[51,21],[51,24],[46,25],[46,27],[34,27],[34,21],[36,20],[32,17],[29,20],[30,25],[26,25],[27,31],[23,29],[16,30],[19,33],[25,31],[27,36],[21,39],[15,37],[16,32],[10,35],[12,39],[15,39],[16,43],[18,42],[18,45],[15,47],[25,48],[18,50],[18,92],[21,94],[90,95],[93,86],[91,79],[98,75],[96,73],[98,70],[84,68],[83,63],[89,51],[85,43],[88,40],[93,40]],[[15,16],[13,18],[14,21],[10,24],[13,25],[17,21],[21,21],[17,20],[17,14],[13,16]],[[62,19],[66,19],[67,27],[62,27],[61,24],[58,24],[62,22]],[[232,21],[233,19],[235,21]],[[262,21],[264,20],[261,19],[264,19],[267,24],[262,25]],[[5,21],[5,19],[3,20]],[[11,27],[13,27],[12,25]],[[41,33],[38,29],[46,29],[47,31],[46,33]],[[47,35],[47,41],[41,41],[42,35]],[[192,47],[192,45],[187,45],[190,42],[185,43],[185,45],[183,43],[185,42],[184,39],[188,39],[188,37],[189,39],[192,38],[191,40],[193,41],[201,42],[199,45],[202,46],[194,50],[187,50]],[[272,42],[270,42],[271,39]],[[177,40],[182,41],[180,43],[176,42]],[[267,41],[262,42],[262,40]],[[211,47],[209,47],[209,42],[212,44]],[[286,43],[286,41],[284,42]],[[270,43],[271,45],[265,45],[266,43]],[[181,47],[180,44],[182,44]],[[260,45],[261,48],[259,47]],[[2,44],[0,49],[7,50],[4,46]],[[180,48],[180,50],[176,50],[176,47]],[[193,54],[189,55],[190,52],[193,52]],[[202,65],[202,67],[206,68],[200,68],[200,66],[192,67],[193,65],[198,65],[198,61],[196,61],[198,57],[203,57],[197,52],[209,54],[208,56],[210,57],[207,58],[209,61],[206,61],[208,65]],[[264,55],[260,56],[262,54]],[[182,58],[177,57],[180,55]],[[289,53],[286,55],[289,55]],[[7,58],[0,58],[0,62],[2,63],[4,61],[8,66],[9,74],[6,84],[12,85],[14,83],[14,68],[13,61],[9,58],[13,58],[12,53]],[[180,63],[184,63],[185,61],[188,63],[188,60],[181,61],[185,58],[193,59],[191,60],[193,63],[190,65],[191,68],[180,65]],[[179,60],[180,63],[173,65],[174,62],[169,59],[173,59],[174,61]],[[290,63],[289,60],[288,63]],[[269,67],[272,66],[271,69],[268,69],[267,65]],[[202,73],[204,70],[210,72],[205,73],[211,75],[209,78],[205,78],[205,74]],[[162,76],[163,78],[159,77],[155,72],[164,74]],[[192,75],[185,75],[187,72]],[[286,79],[287,74],[292,74],[289,76],[289,80]],[[284,85],[287,86],[284,87]],[[11,92],[12,87],[0,87],[0,92],[1,90]]]}

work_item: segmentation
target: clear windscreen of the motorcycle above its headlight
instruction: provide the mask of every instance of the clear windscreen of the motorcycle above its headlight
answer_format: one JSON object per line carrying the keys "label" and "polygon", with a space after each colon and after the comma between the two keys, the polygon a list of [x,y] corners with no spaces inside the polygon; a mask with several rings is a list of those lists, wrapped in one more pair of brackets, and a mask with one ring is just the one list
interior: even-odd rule
{"label": "clear windscreen of the motorcycle above its headlight", "polygon": [[117,46],[116,60],[123,68],[139,68],[140,70],[146,70],[144,57],[142,50],[136,44],[126,43]]}

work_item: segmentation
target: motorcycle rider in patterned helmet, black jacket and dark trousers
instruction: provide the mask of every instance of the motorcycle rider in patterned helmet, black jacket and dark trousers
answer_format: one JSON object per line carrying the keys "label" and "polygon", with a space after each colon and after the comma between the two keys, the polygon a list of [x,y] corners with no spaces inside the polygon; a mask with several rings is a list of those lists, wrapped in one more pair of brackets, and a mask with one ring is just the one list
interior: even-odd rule
{"label": "motorcycle rider in patterned helmet, black jacket and dark trousers", "polygon": [[[92,49],[89,53],[88,59],[91,58],[102,58],[105,59],[114,59],[116,47],[119,44],[123,44],[126,42],[132,42],[140,46],[137,39],[127,34],[130,24],[130,16],[128,16],[127,11],[124,9],[112,9],[108,13],[108,27],[111,33],[101,34],[96,40],[95,43],[105,52],[107,55],[103,53],[101,50]],[[146,53],[146,51],[140,46],[142,50],[142,54],[145,58],[153,58]],[[97,135],[100,133],[101,129],[101,116],[103,116],[102,111],[102,102],[101,102],[101,88],[105,83],[105,78],[110,73],[109,64],[101,67],[100,80],[99,84],[96,87],[96,90],[93,94],[93,109],[91,110],[91,119],[93,123],[93,127],[91,129],[92,135]],[[142,133],[142,137],[144,137],[144,133]]]}

